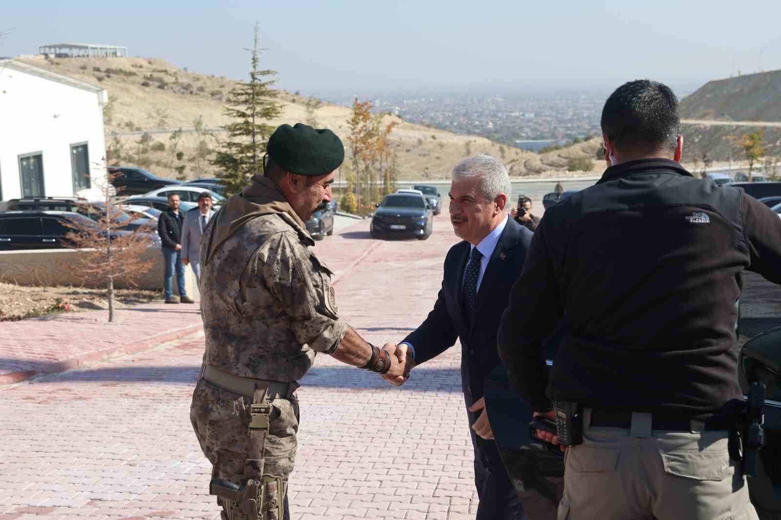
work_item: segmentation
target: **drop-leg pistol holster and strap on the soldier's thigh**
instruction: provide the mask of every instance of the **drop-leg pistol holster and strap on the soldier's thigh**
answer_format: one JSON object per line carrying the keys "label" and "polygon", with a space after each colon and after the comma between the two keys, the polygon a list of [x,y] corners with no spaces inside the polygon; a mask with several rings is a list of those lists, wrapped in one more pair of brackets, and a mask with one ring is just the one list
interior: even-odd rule
{"label": "drop-leg pistol holster and strap on the soldier's thigh", "polygon": [[258,385],[252,397],[244,474],[233,475],[227,480],[212,479],[209,483],[209,494],[222,499],[227,520],[284,518],[284,481],[281,476],[263,474],[271,415],[271,404],[266,402],[267,392],[268,387]]}

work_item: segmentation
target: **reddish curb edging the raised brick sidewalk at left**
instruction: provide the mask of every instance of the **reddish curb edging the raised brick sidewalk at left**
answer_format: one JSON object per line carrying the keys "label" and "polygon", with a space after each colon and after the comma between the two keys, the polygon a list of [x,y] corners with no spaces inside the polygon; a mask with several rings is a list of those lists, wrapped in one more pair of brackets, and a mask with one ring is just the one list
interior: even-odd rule
{"label": "reddish curb edging the raised brick sidewalk at left", "polygon": [[203,323],[195,323],[190,326],[182,327],[181,329],[174,329],[169,332],[155,334],[144,340],[135,341],[132,344],[121,345],[119,347],[109,347],[102,351],[87,352],[77,358],[63,359],[59,362],[46,363],[41,366],[40,369],[23,370],[20,372],[9,372],[8,374],[0,375],[0,386],[12,385],[15,383],[22,383],[27,379],[33,379],[38,376],[48,376],[50,374],[56,374],[59,372],[65,372],[66,370],[73,370],[82,368],[86,365],[92,365],[97,362],[105,361],[109,358],[116,358],[116,356],[133,354],[138,351],[145,351],[149,348],[156,347],[159,344],[168,343],[169,341],[180,340],[183,337],[190,336],[192,333],[197,332],[198,329],[203,327]]}

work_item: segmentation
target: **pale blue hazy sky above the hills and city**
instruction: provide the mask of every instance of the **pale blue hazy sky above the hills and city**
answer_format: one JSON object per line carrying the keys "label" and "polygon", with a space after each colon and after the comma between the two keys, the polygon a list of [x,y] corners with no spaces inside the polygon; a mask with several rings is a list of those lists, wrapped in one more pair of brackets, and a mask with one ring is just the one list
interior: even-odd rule
{"label": "pale blue hazy sky above the hills and city", "polygon": [[305,94],[615,87],[638,77],[694,90],[756,71],[760,55],[762,69],[781,69],[778,0],[5,1],[0,55],[126,45],[130,55],[240,78],[255,20],[268,49],[262,66]]}

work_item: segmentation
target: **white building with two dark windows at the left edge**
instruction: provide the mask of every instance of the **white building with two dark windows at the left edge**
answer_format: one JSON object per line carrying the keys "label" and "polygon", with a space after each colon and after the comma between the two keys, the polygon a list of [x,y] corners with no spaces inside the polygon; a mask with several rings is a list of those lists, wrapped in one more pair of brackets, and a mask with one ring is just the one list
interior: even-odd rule
{"label": "white building with two dark windows at the left edge", "polygon": [[0,201],[100,198],[107,101],[100,87],[0,60]]}

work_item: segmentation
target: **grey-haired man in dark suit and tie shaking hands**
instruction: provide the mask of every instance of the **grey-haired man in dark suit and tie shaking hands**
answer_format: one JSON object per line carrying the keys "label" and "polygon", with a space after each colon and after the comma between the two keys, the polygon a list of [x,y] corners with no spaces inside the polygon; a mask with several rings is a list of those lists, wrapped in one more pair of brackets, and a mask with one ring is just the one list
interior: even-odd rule
{"label": "grey-haired man in dark suit and tie shaking hands", "polygon": [[487,376],[501,365],[496,348],[501,314],[532,237],[529,230],[508,218],[510,191],[505,166],[489,155],[465,159],[453,169],[450,218],[463,241],[444,260],[442,289],[433,311],[400,344],[412,354],[407,356],[408,369],[412,369],[461,340],[461,381],[480,497],[477,520],[524,518],[493,440],[483,400]]}

